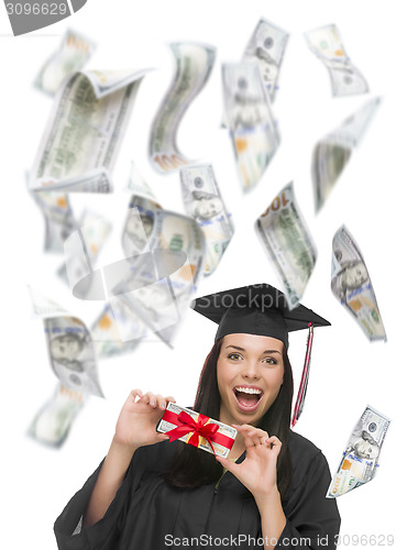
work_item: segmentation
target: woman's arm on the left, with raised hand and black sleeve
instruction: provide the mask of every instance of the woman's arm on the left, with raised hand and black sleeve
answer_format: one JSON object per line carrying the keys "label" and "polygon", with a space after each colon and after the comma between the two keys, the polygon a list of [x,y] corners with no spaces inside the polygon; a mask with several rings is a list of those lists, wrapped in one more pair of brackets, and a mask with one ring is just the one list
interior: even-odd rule
{"label": "woman's arm on the left, with raised hand and black sleeve", "polygon": [[[140,389],[131,392],[121,409],[108,455],[55,521],[59,549],[86,550],[98,541],[106,541],[100,548],[112,547],[121,532],[130,495],[145,469],[146,455],[138,450],[167,439],[155,428],[168,400],[174,398],[143,395]],[[81,518],[82,529],[78,527]]]}

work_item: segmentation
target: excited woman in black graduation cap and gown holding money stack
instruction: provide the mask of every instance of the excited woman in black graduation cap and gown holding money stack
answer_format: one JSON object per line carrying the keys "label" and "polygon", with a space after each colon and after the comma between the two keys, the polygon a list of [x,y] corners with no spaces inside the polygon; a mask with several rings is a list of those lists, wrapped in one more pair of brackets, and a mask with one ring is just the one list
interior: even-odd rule
{"label": "excited woman in black graduation cap and gown holding money stack", "polygon": [[61,550],[334,549],[340,517],[327,461],[290,432],[288,331],[329,324],[270,285],[196,300],[219,324],[194,409],[238,430],[215,458],[156,425],[169,400],[133,391],[110,450],[55,521]]}

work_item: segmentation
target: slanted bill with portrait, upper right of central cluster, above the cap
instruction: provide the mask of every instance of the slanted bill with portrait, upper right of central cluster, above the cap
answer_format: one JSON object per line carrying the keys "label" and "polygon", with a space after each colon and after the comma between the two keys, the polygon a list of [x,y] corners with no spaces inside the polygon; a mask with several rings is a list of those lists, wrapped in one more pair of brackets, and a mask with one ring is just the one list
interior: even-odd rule
{"label": "slanted bill with portrait, upper right of central cluster, above the cap", "polygon": [[183,201],[188,216],[200,226],[207,243],[204,275],[210,275],[233,235],[231,215],[227,211],[209,164],[180,169]]}

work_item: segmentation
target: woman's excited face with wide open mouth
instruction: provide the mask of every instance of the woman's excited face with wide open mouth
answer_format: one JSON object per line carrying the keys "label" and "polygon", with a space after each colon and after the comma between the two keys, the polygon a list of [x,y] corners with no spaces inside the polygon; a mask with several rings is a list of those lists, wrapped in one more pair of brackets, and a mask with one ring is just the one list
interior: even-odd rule
{"label": "woman's excited face with wide open mouth", "polygon": [[256,334],[227,334],[217,363],[220,420],[256,426],[284,378],[284,344]]}

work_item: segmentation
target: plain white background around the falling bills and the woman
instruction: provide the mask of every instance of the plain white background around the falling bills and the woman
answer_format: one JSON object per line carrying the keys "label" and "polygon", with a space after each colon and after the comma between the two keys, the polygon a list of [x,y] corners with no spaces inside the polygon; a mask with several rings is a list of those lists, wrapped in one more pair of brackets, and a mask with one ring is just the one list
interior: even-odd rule
{"label": "plain white background around the falling bills and the woman", "polygon": [[[228,133],[220,129],[220,69],[222,63],[240,59],[261,16],[290,33],[274,105],[282,144],[258,186],[243,195]],[[261,282],[280,287],[253,222],[293,179],[298,204],[318,248],[318,262],[302,302],[332,322],[332,327],[316,331],[308,396],[296,431],[322,449],[333,472],[367,403],[396,418],[393,270],[396,82],[392,2],[89,0],[72,18],[20,37],[12,36],[2,6],[0,18],[3,179],[0,433],[1,502],[7,508],[3,548],[56,548],[53,522],[106,454],[118,411],[129,391],[141,387],[173,394],[179,404],[190,405],[216,331],[216,326],[190,311],[174,350],[161,342],[142,343],[131,354],[100,361],[99,376],[106,399],[89,399],[64,446],[54,450],[25,436],[32,418],[56,385],[42,321],[31,315],[26,284],[80,316],[87,324],[101,308],[100,304],[92,309],[91,304],[74,299],[57,280],[55,271],[63,257],[44,255],[43,218],[25,186],[24,174],[32,166],[52,105],[32,82],[68,26],[97,42],[89,68],[157,68],[145,77],[139,90],[114,170],[116,194],[72,198],[77,215],[89,205],[114,224],[112,240],[99,257],[101,265],[122,255],[120,231],[130,195],[124,187],[131,160],[163,207],[183,211],[178,175],[161,176],[147,161],[150,125],[173,75],[173,59],[166,43],[193,40],[217,47],[212,75],[183,120],[178,144],[188,157],[213,165],[227,207],[233,215],[235,235],[216,273],[201,280],[198,295]],[[348,55],[370,84],[369,95],[332,98],[327,69],[308,50],[302,36],[305,31],[329,23],[338,25]],[[376,95],[383,97],[383,103],[322,211],[316,216],[310,176],[314,145]],[[342,223],[363,252],[387,331],[387,343],[370,343],[331,294],[331,241]],[[292,334],[290,360],[296,381],[302,366],[305,343],[306,334]],[[343,546],[348,546],[348,536],[352,535],[375,535],[377,541],[380,535],[396,535],[392,505],[394,431],[391,426],[376,479],[338,499]],[[382,548],[380,544],[369,547]]]}

